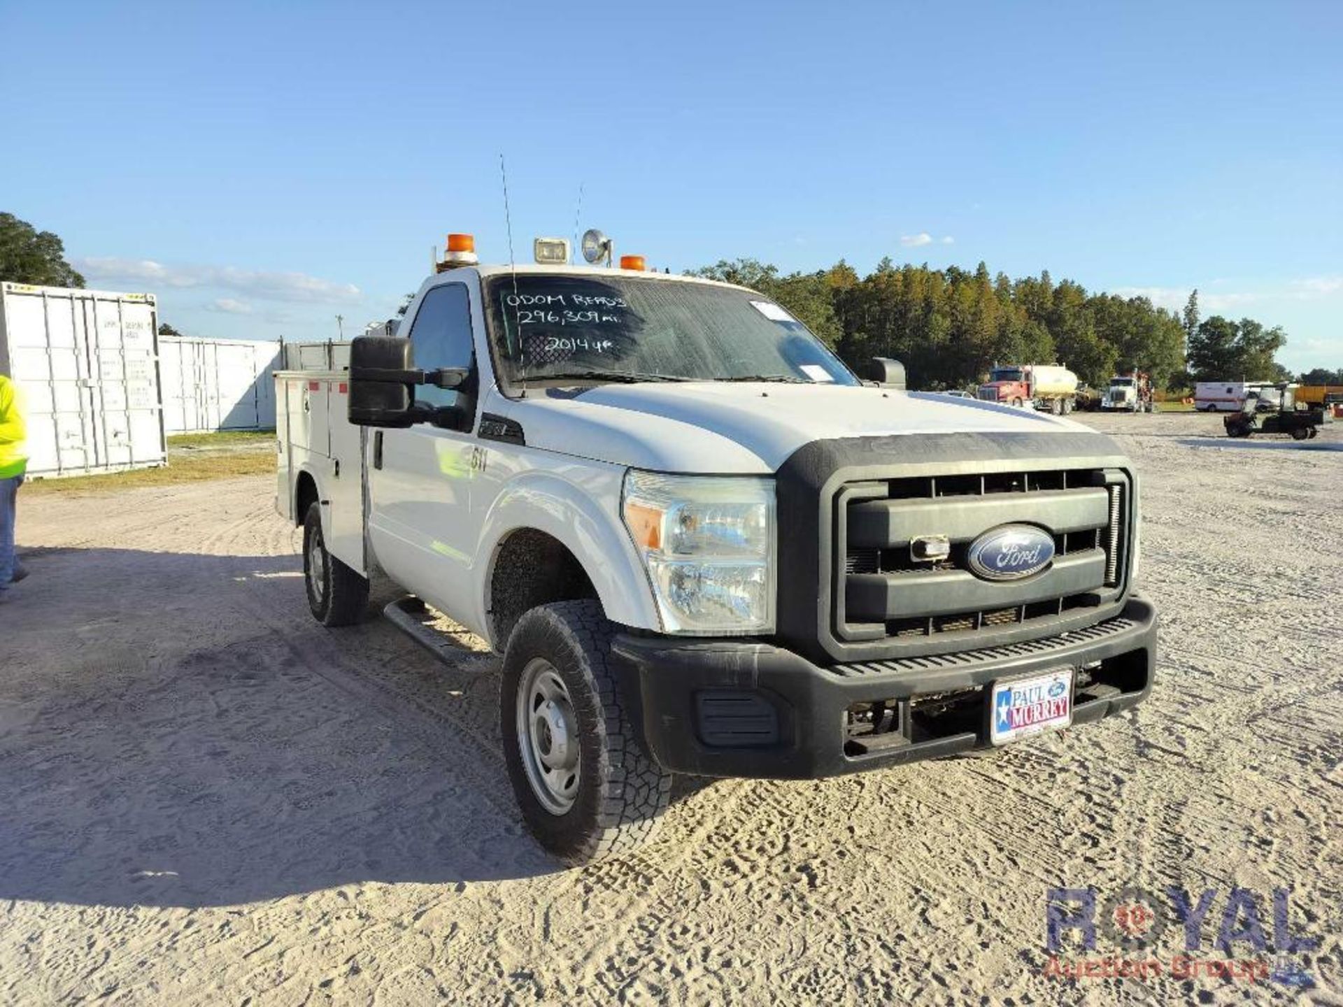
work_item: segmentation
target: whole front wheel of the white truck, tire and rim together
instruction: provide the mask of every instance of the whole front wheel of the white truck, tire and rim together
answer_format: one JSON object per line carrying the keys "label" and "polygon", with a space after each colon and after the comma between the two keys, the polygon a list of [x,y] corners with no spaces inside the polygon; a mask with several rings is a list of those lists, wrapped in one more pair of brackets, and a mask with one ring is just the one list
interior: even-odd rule
{"label": "whole front wheel of the white truck, tire and rim together", "polygon": [[540,606],[504,651],[500,729],[532,834],[568,863],[631,853],[653,838],[672,773],[645,751],[594,600]]}

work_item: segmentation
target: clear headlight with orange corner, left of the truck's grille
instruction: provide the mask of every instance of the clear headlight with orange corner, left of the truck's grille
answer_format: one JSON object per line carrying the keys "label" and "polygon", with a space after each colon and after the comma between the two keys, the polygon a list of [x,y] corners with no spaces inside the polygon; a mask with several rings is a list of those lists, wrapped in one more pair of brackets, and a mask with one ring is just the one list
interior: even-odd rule
{"label": "clear headlight with orange corner, left of the truck's grille", "polygon": [[774,631],[774,479],[631,469],[620,510],[666,632]]}

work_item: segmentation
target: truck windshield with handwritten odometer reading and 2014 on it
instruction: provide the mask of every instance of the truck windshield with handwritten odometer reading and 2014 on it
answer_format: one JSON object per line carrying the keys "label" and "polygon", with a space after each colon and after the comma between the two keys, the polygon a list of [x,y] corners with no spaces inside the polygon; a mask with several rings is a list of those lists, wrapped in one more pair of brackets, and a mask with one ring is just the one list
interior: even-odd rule
{"label": "truck windshield with handwritten odometer reading and 2014 on it", "polygon": [[486,281],[501,376],[522,380],[858,379],[760,294],[709,283],[565,274]]}

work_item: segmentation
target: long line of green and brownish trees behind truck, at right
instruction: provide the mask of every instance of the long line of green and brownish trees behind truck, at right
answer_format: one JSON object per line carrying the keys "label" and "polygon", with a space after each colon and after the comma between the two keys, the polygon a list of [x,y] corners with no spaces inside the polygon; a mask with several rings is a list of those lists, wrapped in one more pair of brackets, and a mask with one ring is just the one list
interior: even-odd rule
{"label": "long line of green and brownish trees behind truck, at right", "polygon": [[753,287],[776,299],[850,367],[896,357],[916,388],[964,388],[994,364],[1060,363],[1092,385],[1146,371],[1159,388],[1199,380],[1288,380],[1275,360],[1281,328],[1221,316],[1202,318],[1198,291],[1183,311],[1146,297],[1092,293],[1048,271],[1011,279],[956,266],[882,259],[865,277],[847,262],[782,274],[755,259],[723,260],[693,275]]}

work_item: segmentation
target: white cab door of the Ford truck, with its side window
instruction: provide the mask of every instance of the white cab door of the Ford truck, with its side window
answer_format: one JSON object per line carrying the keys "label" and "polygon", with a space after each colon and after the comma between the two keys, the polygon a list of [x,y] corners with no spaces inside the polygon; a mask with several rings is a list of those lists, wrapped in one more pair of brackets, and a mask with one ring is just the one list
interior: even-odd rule
{"label": "white cab door of the Ford truck, with its side window", "polygon": [[415,392],[418,403],[458,407],[455,415],[376,431],[368,470],[368,532],[379,564],[403,587],[458,618],[473,611],[469,573],[475,555],[470,481],[478,379],[470,298],[466,283],[430,287],[408,336],[415,367],[471,371],[461,388],[420,385]]}

